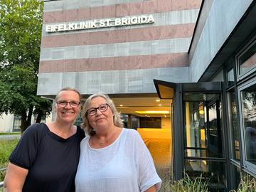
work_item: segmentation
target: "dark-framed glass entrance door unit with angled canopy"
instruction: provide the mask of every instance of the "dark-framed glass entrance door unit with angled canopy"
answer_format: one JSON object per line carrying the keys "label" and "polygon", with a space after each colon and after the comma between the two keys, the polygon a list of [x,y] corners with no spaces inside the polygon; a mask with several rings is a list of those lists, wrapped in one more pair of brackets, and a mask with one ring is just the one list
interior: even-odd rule
{"label": "dark-framed glass entrance door unit with angled canopy", "polygon": [[172,99],[174,179],[202,174],[210,191],[226,191],[220,82],[172,83],[154,80],[159,98]]}

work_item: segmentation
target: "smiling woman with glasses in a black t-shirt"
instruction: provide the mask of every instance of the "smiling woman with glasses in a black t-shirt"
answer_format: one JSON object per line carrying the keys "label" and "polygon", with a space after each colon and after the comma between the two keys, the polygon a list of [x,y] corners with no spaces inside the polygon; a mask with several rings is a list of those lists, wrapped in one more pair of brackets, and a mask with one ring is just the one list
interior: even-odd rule
{"label": "smiling woman with glasses in a black t-shirt", "polygon": [[5,191],[75,191],[80,141],[85,133],[73,123],[80,112],[80,94],[65,87],[55,97],[56,119],[33,124],[9,157]]}

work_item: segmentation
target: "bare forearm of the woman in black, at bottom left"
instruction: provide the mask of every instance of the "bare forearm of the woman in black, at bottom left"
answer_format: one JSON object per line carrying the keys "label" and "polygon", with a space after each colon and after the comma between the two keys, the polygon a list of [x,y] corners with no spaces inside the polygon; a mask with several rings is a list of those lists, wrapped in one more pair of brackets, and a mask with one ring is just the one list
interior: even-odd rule
{"label": "bare forearm of the woman in black, at bottom left", "polygon": [[4,191],[21,192],[27,175],[28,169],[9,163],[4,178]]}

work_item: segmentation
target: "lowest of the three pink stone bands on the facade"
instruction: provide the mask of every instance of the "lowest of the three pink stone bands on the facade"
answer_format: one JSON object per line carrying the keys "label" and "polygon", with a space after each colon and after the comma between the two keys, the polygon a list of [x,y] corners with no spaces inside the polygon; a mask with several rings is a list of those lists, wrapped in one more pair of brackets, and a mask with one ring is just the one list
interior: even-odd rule
{"label": "lowest of the three pink stone bands on the facade", "polygon": [[186,66],[188,66],[187,53],[169,53],[114,58],[41,61],[39,65],[39,73],[175,68]]}

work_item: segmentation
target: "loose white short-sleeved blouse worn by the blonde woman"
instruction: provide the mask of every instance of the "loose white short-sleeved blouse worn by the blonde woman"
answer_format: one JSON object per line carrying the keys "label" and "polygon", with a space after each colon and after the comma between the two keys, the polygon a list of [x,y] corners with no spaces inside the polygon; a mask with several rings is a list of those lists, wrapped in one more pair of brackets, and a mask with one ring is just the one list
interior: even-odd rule
{"label": "loose white short-sleeved blouse worn by the blonde woman", "polygon": [[114,143],[100,149],[89,145],[90,136],[80,144],[80,161],[75,176],[76,192],[141,192],[161,178],[139,133],[122,129]]}

